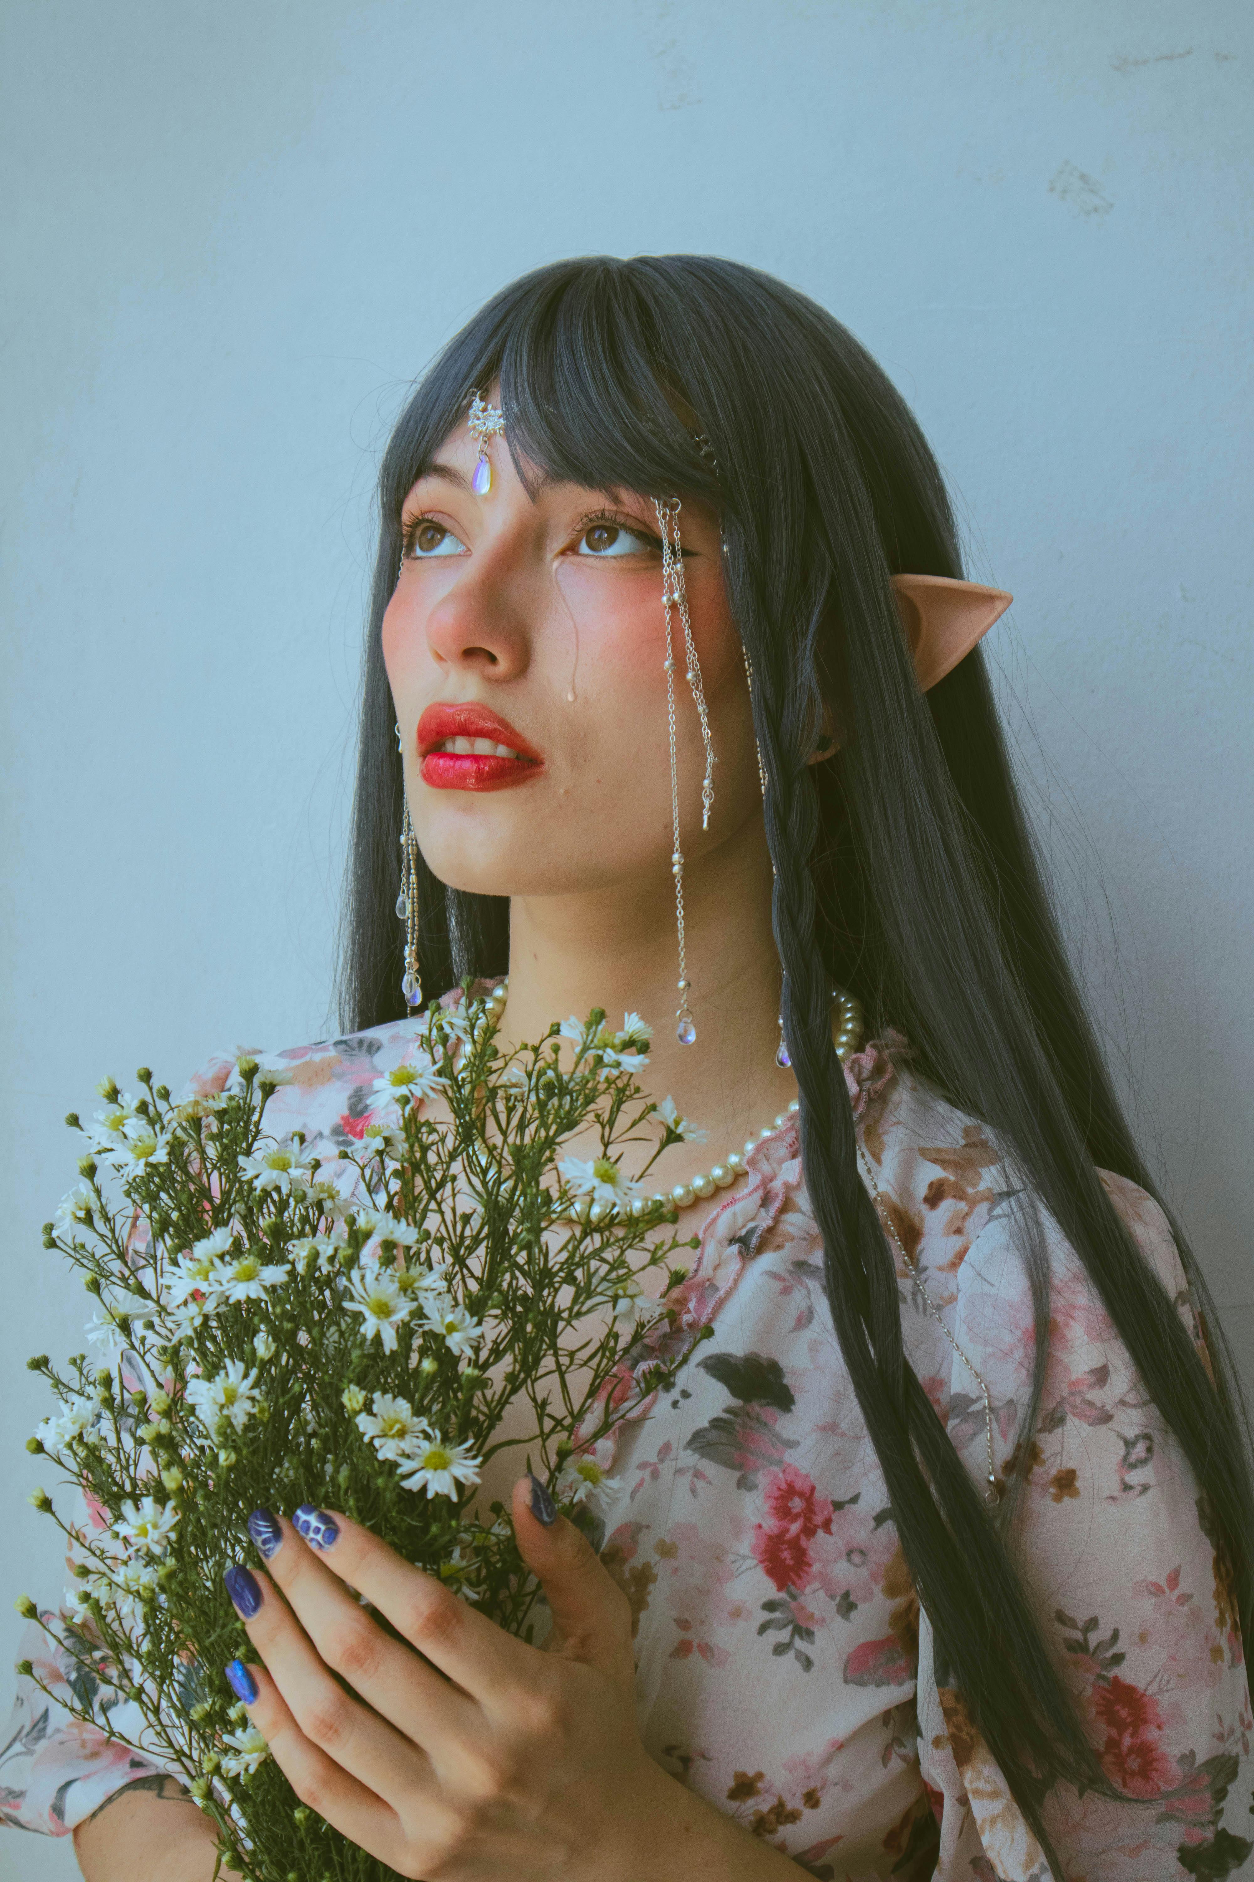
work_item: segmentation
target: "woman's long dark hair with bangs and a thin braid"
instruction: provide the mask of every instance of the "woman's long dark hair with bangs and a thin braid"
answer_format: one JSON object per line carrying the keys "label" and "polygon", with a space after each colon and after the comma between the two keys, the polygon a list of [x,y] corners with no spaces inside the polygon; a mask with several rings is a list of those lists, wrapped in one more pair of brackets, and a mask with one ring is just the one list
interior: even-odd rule
{"label": "woman's long dark hair with bangs and a thin braid", "polygon": [[[754,269],[598,256],[494,295],[419,384],[382,467],[342,952],[342,1018],[353,1028],[404,1011],[393,915],[402,779],[380,649],[400,504],[464,420],[470,390],[496,380],[521,467],[594,489],[698,497],[722,518],[771,779],[784,1028],[831,1317],[944,1677],[1049,1850],[1042,1803],[1055,1782],[1117,1792],[1015,1571],[1013,1498],[985,1507],[906,1361],[893,1255],[859,1180],[831,1048],[833,984],[857,990],[874,1029],[906,1033],[912,1065],[983,1120],[1075,1248],[1192,1464],[1245,1639],[1254,1637],[1254,1487],[1241,1389],[1213,1310],[1207,1370],[1098,1178],[1115,1171],[1154,1195],[1060,943],[983,657],[966,655],[927,696],[914,678],[889,578],[963,574],[944,482],[874,359],[823,309]],[[807,766],[823,706],[840,751]],[[425,875],[419,905],[425,986],[506,971],[508,901]],[[1025,1233],[1025,1261],[1040,1395],[1049,1323],[1040,1229]]]}

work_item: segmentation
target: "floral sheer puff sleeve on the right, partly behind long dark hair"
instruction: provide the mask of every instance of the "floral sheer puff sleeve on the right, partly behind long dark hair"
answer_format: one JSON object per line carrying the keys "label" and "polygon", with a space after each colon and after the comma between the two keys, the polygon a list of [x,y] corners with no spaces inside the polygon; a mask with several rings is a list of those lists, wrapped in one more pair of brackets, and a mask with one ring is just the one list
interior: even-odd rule
{"label": "floral sheer puff sleeve on the right, partly behind long dark hair", "polygon": [[[1102,1180],[1205,1357],[1162,1210],[1134,1184],[1107,1172]],[[989,1385],[998,1474],[1021,1477],[1011,1547],[1045,1637],[1107,1777],[1136,1799],[1055,1792],[1049,1831],[1068,1882],[1224,1882],[1250,1873],[1252,1720],[1205,1502],[1089,1276],[1051,1227],[1049,1361],[1025,1442],[1032,1312],[1010,1233],[1015,1206],[995,1210],[966,1252],[951,1325]],[[949,1383],[949,1430],[980,1475],[983,1417],[961,1417],[955,1430],[953,1408],[970,1400],[957,1359]],[[940,1882],[1047,1882],[1042,1850],[961,1694],[936,1679],[927,1617],[917,1716],[921,1775],[940,1822]]]}

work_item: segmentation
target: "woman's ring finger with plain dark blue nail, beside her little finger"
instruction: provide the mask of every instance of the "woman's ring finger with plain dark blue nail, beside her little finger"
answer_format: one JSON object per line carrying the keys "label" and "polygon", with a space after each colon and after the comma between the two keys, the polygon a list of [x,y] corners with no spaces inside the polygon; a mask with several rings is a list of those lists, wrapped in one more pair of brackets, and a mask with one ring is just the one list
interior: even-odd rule
{"label": "woman's ring finger with plain dark blue nail, beside her little finger", "polygon": [[310,1745],[389,1805],[431,1782],[427,1754],[340,1686],[265,1575],[229,1568],[226,1585],[248,1639]]}

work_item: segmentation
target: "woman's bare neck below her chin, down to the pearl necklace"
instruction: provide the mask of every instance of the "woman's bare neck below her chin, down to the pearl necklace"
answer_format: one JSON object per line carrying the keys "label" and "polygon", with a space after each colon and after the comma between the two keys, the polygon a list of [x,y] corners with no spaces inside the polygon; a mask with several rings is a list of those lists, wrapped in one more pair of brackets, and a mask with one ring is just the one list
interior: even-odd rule
{"label": "woman's bare neck below her chin, down to the pearl necklace", "polygon": [[[696,1043],[675,1037],[675,900],[664,885],[615,885],[579,896],[517,898],[509,907],[509,999],[504,1043],[540,1039],[553,1020],[603,1007],[607,1024],[639,1013],[652,1026],[651,1097],[673,1097],[703,1144],[675,1144],[658,1186],[707,1169],[771,1122],[795,1095],[775,1063],[780,969],[771,933],[771,860],[761,817],[684,869],[688,994]],[[624,1167],[630,1167],[624,1157]]]}

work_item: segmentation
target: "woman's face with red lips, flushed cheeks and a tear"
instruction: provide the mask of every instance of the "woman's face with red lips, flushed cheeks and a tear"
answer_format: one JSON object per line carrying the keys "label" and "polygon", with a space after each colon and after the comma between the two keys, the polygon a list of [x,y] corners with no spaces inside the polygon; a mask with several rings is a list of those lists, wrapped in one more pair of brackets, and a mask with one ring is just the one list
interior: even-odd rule
{"label": "woman's face with red lips, flushed cheeks and a tear", "polygon": [[[410,489],[384,615],[423,856],[451,886],[493,896],[669,890],[667,634],[652,501],[572,484],[543,484],[532,499],[500,437],[489,444],[491,489],[476,495],[478,455],[459,425]],[[718,760],[703,834],[705,757],[675,614],[681,845],[698,862],[756,817],[761,798],[718,523],[692,504],[679,523]]]}

